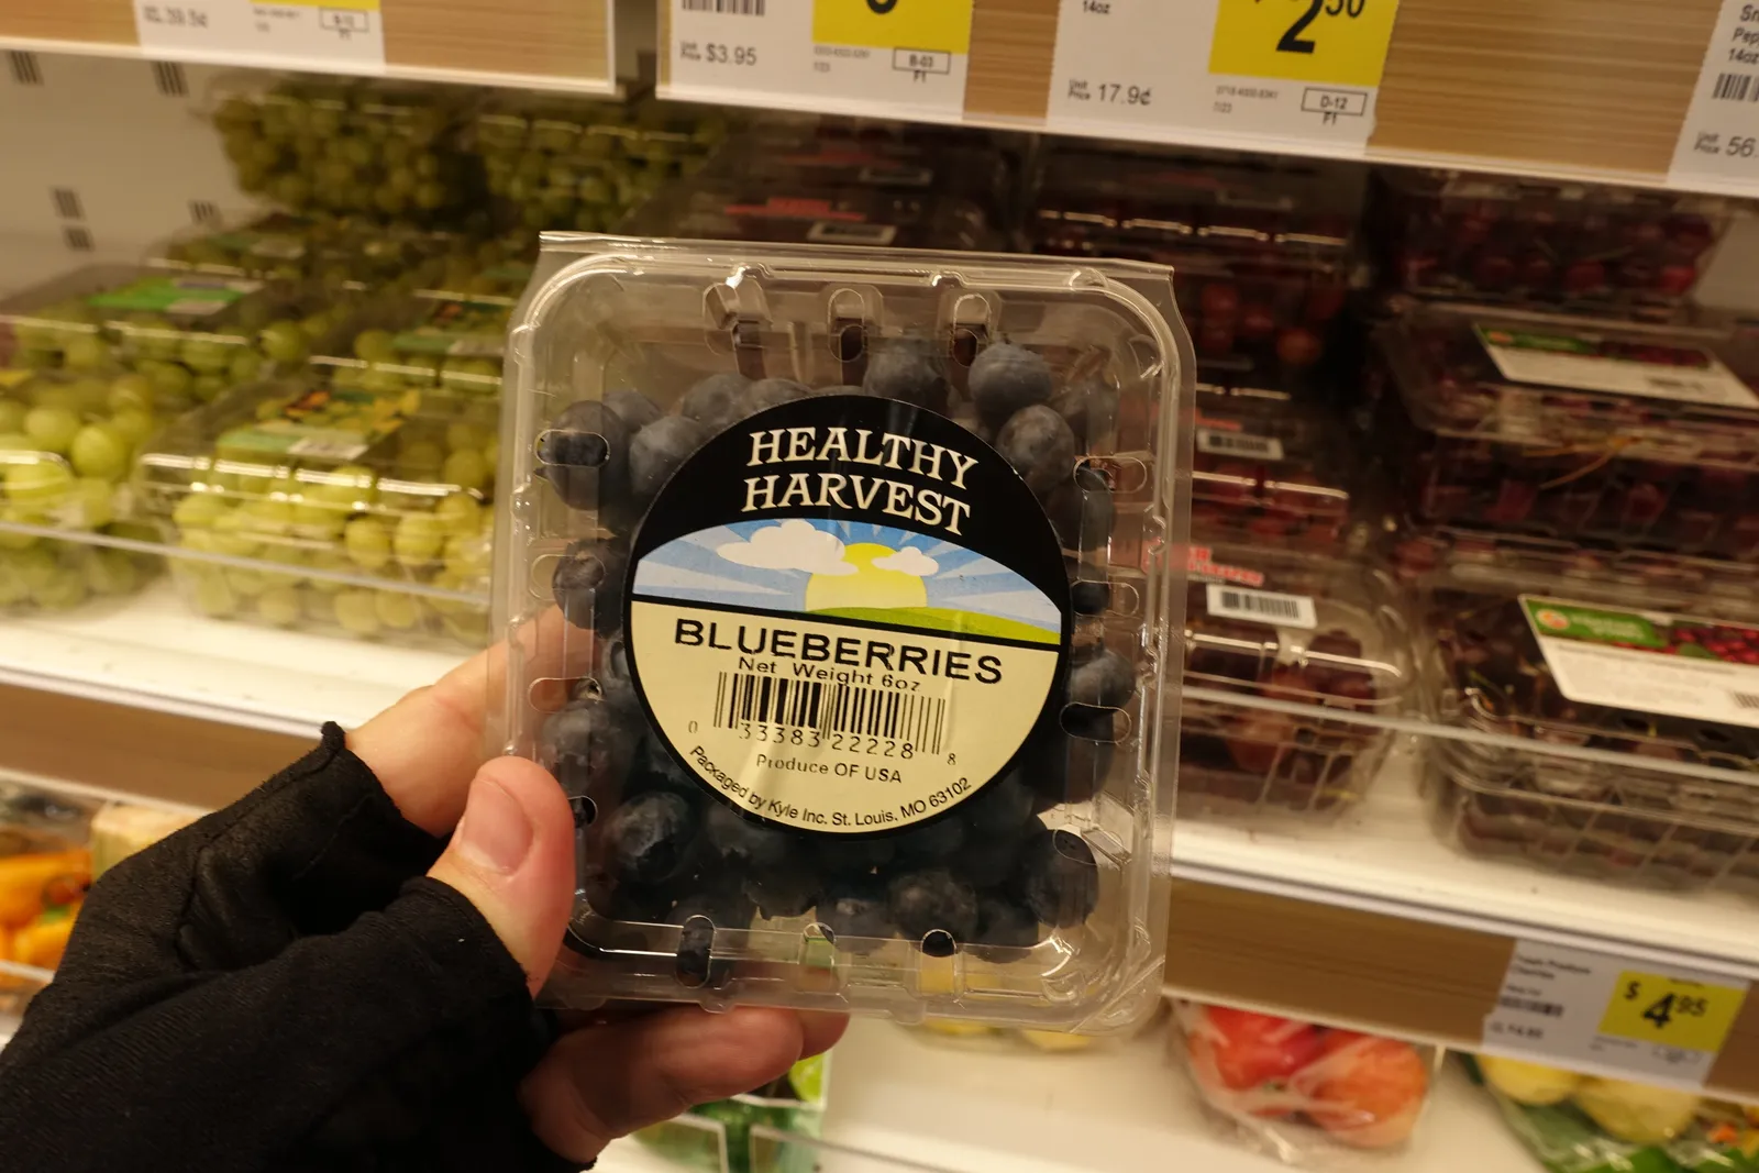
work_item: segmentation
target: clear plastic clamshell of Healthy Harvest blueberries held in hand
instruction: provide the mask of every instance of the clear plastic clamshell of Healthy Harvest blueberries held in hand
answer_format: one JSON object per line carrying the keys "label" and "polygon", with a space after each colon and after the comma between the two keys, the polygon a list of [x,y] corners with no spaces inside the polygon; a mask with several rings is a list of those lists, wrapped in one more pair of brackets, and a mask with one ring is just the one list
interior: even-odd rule
{"label": "clear plastic clamshell of Healthy Harvest blueberries held in hand", "polygon": [[1085,1032],[1152,1001],[1170,276],[545,236],[494,598],[505,749],[575,811],[556,999]]}

